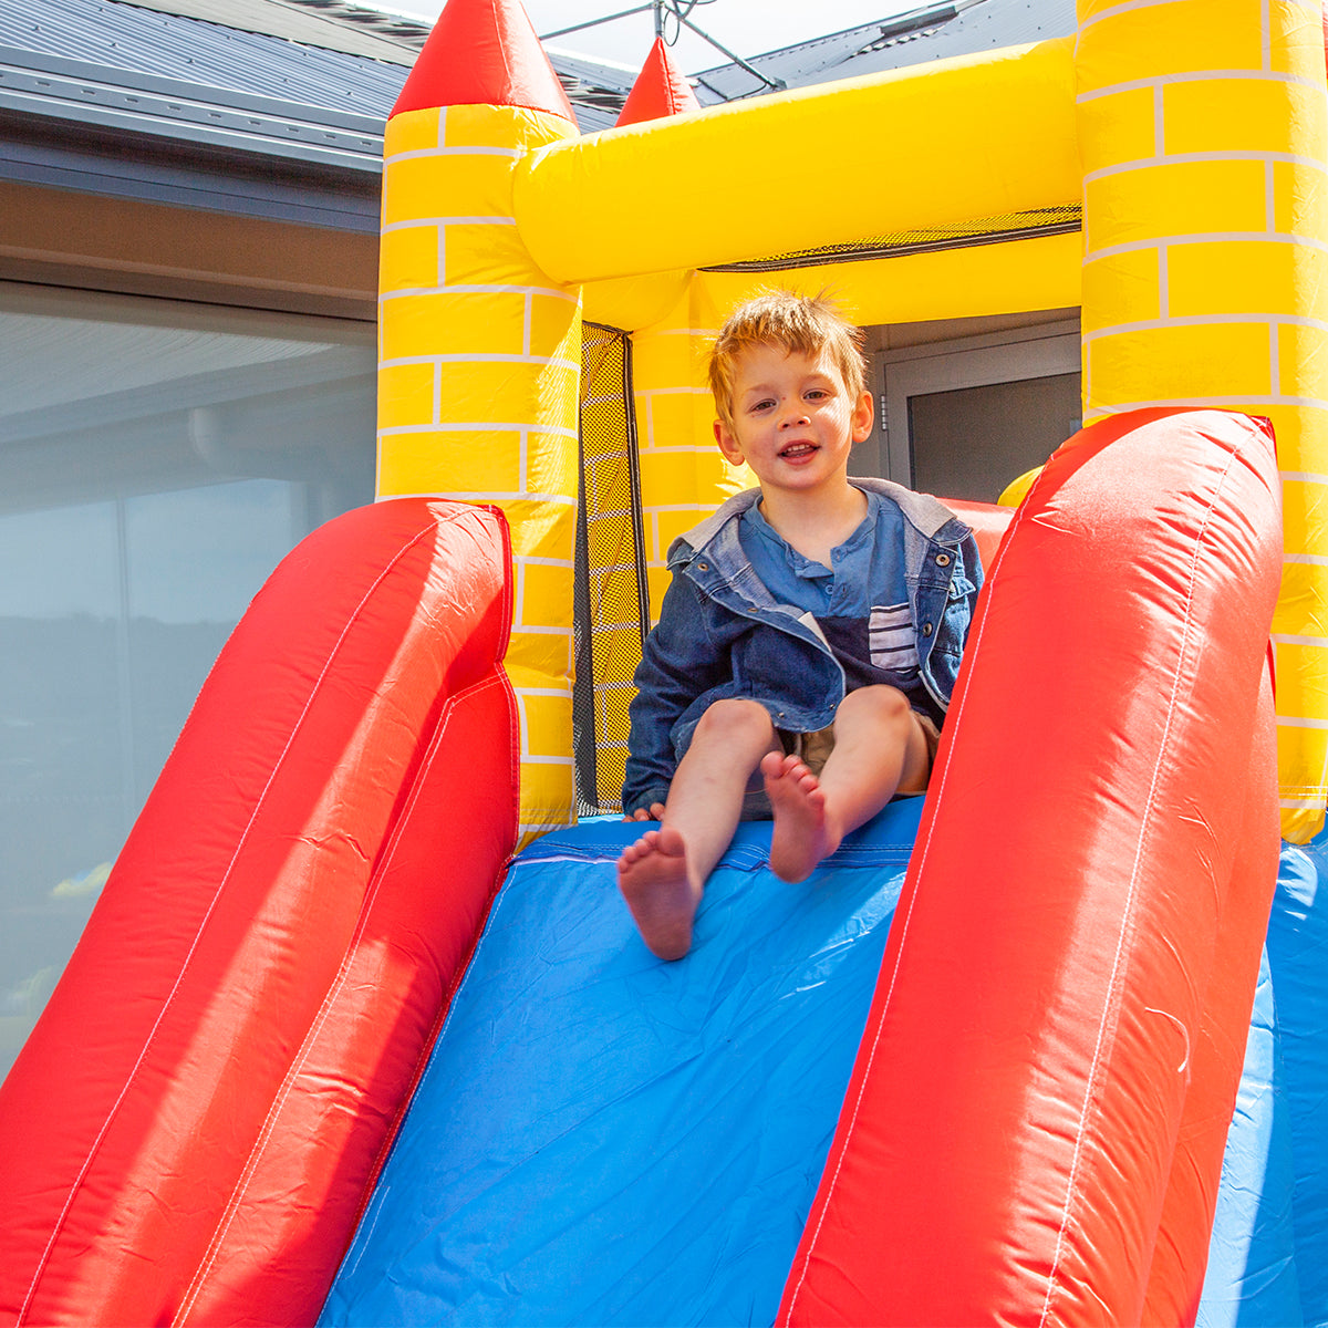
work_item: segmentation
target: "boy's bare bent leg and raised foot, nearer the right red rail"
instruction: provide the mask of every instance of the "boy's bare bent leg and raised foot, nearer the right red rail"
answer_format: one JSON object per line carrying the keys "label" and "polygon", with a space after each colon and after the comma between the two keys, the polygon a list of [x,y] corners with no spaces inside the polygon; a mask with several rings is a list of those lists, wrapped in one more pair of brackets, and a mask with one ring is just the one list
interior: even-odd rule
{"label": "boy's bare bent leg and raised foot, nearer the right red rail", "polygon": [[791,756],[765,757],[761,773],[774,809],[770,870],[782,880],[805,880],[896,793],[926,789],[931,772],[908,699],[892,687],[865,687],[835,714],[834,750],[819,780]]}

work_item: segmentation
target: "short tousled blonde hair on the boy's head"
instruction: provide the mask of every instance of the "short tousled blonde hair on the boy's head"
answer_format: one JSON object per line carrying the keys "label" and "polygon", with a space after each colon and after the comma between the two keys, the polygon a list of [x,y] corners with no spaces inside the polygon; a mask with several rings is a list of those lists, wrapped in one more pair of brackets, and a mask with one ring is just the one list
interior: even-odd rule
{"label": "short tousled blonde hair on the boy's head", "polygon": [[825,291],[819,295],[768,291],[740,304],[729,315],[710,349],[708,368],[714,409],[730,429],[734,361],[754,345],[778,345],[786,355],[798,353],[809,359],[829,355],[853,401],[866,386],[862,329],[839,312]]}

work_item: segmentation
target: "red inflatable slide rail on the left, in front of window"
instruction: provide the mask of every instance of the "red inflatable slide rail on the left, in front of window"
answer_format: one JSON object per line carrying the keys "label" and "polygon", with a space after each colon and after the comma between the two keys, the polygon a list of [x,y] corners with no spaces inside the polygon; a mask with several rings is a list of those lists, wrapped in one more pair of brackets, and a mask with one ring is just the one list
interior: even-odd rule
{"label": "red inflatable slide rail on the left, in front of window", "polygon": [[397,499],[256,596],[0,1090],[0,1323],[317,1317],[515,842],[510,563]]}

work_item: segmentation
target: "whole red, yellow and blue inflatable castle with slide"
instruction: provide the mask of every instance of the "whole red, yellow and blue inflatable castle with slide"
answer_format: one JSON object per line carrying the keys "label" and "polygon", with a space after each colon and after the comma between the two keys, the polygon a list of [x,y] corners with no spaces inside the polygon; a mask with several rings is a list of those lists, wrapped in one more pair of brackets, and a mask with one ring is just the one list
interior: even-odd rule
{"label": "whole red, yellow and blue inflatable castle with slide", "polygon": [[[1080,0],[705,112],[657,48],[582,138],[518,0],[450,0],[382,501],[255,599],[4,1084],[0,1321],[1328,1321],[1324,73],[1317,0]],[[801,886],[744,825],[663,964],[574,774],[611,806],[744,485],[703,359],[766,286],[1080,307],[1086,428],[956,505],[926,799]]]}

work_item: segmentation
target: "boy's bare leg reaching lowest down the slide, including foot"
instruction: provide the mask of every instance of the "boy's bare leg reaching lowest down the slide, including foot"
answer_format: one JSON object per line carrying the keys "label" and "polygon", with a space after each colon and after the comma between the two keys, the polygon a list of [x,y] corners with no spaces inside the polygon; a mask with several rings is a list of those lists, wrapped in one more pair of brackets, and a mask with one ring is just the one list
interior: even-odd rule
{"label": "boy's bare leg reaching lowest down the slide, including foot", "polygon": [[691,950],[706,878],[737,829],[752,772],[772,750],[780,744],[764,705],[716,701],[679,762],[663,825],[618,859],[619,888],[641,939],[660,959],[681,959]]}

